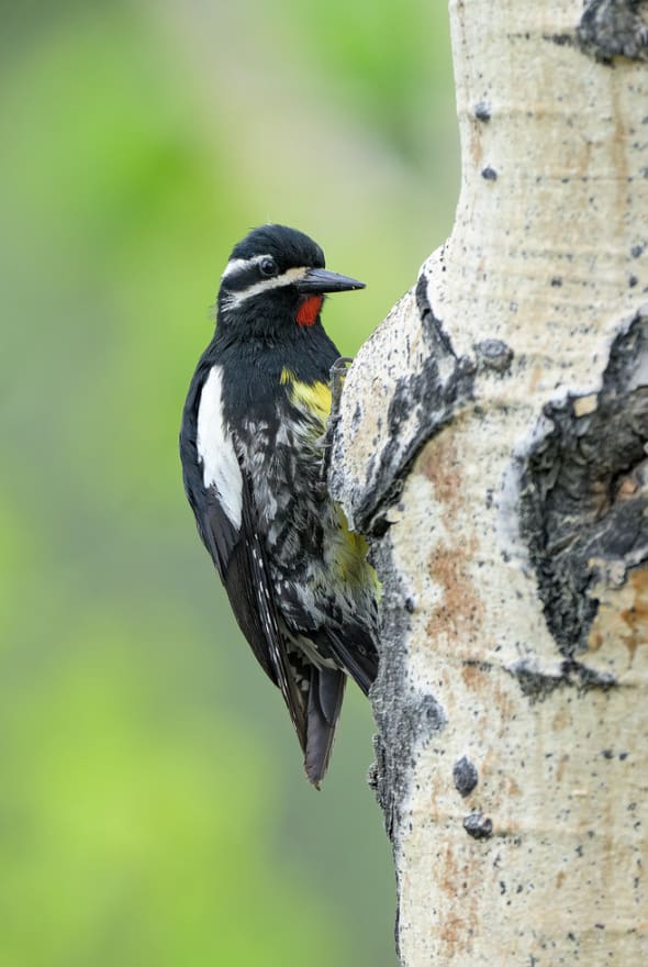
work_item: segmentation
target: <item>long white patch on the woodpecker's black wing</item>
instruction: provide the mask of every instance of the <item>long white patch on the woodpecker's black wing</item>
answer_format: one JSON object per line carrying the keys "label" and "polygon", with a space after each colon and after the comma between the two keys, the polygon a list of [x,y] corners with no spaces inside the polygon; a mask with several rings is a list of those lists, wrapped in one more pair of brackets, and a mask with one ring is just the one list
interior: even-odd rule
{"label": "long white patch on the woodpecker's black wing", "polygon": [[200,394],[195,445],[206,489],[214,487],[235,527],[241,526],[243,479],[232,440],[225,433],[222,402],[223,373],[212,366]]}

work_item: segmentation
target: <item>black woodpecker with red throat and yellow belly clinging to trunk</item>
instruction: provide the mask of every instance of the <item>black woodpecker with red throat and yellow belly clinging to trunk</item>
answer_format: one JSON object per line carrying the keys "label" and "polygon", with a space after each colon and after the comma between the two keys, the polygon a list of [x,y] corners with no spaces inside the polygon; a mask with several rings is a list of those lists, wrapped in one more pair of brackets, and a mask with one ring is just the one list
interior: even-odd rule
{"label": "black woodpecker with red throat and yellow belly clinging to trunk", "polygon": [[365,284],[324,265],[320,246],[284,225],[255,229],[234,247],[180,431],[199,534],[317,788],[346,677],[367,694],[378,666],[367,544],[322,486],[339,359],[322,304]]}

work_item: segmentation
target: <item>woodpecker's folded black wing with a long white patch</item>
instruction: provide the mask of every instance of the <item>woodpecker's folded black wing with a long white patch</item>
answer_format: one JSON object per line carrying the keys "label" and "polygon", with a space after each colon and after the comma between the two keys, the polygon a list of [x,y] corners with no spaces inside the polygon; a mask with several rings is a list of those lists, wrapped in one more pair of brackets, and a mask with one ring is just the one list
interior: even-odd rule
{"label": "woodpecker's folded black wing with a long white patch", "polygon": [[289,660],[279,629],[265,548],[259,540],[252,481],[236,440],[225,432],[220,367],[190,391],[180,435],[185,487],[202,541],[227,591],[243,634],[268,677],[281,689],[305,752],[308,693]]}

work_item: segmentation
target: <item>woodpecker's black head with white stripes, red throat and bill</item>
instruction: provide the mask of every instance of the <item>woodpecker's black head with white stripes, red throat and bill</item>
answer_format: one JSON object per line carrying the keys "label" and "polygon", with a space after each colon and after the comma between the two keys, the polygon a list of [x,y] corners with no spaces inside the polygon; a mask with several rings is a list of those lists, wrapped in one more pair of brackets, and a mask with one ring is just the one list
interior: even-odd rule
{"label": "woodpecker's black head with white stripes, red throat and bill", "polygon": [[219,291],[219,331],[228,338],[282,338],[320,322],[326,292],[364,282],[327,271],[312,238],[286,225],[261,225],[234,246]]}

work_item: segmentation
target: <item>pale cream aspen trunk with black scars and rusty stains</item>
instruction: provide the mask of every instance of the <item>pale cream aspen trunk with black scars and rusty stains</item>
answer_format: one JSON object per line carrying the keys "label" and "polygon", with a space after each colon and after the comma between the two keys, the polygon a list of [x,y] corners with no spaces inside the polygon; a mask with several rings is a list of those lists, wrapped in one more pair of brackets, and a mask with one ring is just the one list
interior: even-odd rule
{"label": "pale cream aspen trunk with black scars and rusty stains", "polygon": [[450,2],[450,238],[349,370],[423,965],[648,964],[648,2]]}

